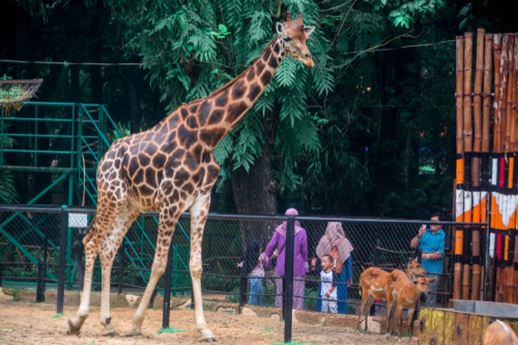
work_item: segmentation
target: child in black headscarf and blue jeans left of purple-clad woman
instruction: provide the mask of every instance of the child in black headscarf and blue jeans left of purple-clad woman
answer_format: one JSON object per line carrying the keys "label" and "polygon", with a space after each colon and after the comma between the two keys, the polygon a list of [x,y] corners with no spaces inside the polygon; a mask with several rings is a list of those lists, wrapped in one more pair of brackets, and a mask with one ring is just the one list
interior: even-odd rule
{"label": "child in black headscarf and blue jeans left of purple-clad woman", "polygon": [[261,253],[261,244],[258,240],[253,239],[247,244],[247,250],[244,252],[244,259],[238,265],[241,267],[242,277],[249,277],[250,295],[248,304],[262,305],[262,278],[265,277],[265,267],[268,264],[268,258],[265,253]]}

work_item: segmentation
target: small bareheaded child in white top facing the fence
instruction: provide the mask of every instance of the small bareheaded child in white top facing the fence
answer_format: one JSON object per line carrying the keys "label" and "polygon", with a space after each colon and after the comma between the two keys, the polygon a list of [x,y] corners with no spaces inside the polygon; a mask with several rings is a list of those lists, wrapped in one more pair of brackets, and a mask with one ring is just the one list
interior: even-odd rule
{"label": "small bareheaded child in white top facing the fence", "polygon": [[[315,270],[316,258],[311,259],[311,270]],[[337,293],[336,293],[336,282],[338,282],[338,276],[333,270],[333,257],[331,255],[323,255],[320,267],[320,298],[322,299],[322,311],[324,313],[338,313]]]}

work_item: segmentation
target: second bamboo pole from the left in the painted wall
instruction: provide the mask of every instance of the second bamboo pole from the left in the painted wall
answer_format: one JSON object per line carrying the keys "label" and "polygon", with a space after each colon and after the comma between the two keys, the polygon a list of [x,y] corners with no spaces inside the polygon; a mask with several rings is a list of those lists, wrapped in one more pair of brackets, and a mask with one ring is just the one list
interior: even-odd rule
{"label": "second bamboo pole from the left in the painted wall", "polygon": [[[471,117],[473,34],[464,34],[464,221],[472,221],[471,157],[473,150],[473,126]],[[464,228],[463,236],[462,299],[470,299],[470,229]]]}

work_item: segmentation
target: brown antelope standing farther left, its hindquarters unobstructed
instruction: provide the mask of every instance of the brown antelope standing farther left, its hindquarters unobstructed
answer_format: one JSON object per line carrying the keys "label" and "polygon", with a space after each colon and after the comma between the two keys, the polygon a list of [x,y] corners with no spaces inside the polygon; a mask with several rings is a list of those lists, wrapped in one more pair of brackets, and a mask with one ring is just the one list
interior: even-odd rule
{"label": "brown antelope standing farther left, its hindquarters unobstructed", "polygon": [[[365,331],[367,331],[367,313],[375,299],[382,299],[387,301],[387,326],[385,332],[387,336],[390,335],[390,312],[388,306],[389,304],[392,306],[392,295],[387,292],[391,290],[392,284],[394,284],[392,275],[396,272],[405,275],[402,270],[394,270],[392,273],[389,273],[377,267],[367,268],[360,275],[361,304],[358,309],[358,326],[356,330],[360,329],[361,315],[365,312]],[[426,270],[419,264],[417,259],[409,259],[406,275],[410,279],[416,280],[417,277],[424,277]]]}

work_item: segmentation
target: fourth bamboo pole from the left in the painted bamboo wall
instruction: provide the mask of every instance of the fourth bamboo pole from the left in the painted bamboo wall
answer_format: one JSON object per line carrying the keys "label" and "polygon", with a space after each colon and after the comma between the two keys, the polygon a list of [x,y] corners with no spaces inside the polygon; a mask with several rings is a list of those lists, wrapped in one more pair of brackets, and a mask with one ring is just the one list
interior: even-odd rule
{"label": "fourth bamboo pole from the left in the painted bamboo wall", "polygon": [[[489,149],[490,149],[490,114],[491,114],[491,67],[492,67],[492,34],[485,35],[484,43],[484,69],[483,69],[483,116],[482,116],[482,144],[481,144],[481,190],[486,193],[486,197],[481,199],[481,222],[486,223],[486,210],[488,207],[488,200],[490,197],[489,191]],[[486,233],[486,232],[484,232]],[[481,250],[481,258],[485,264],[488,259],[488,253],[486,253],[487,243],[489,239],[486,238],[483,242],[483,250]],[[486,280],[484,279],[484,270],[481,270],[479,286],[480,286],[480,299],[484,299],[483,290]]]}

